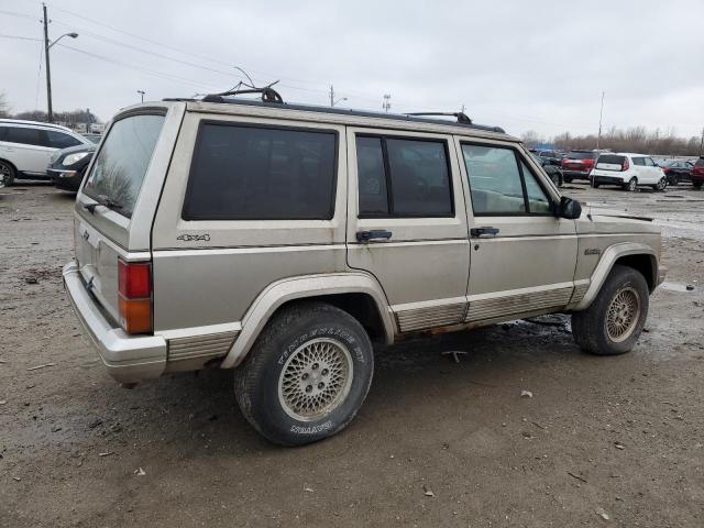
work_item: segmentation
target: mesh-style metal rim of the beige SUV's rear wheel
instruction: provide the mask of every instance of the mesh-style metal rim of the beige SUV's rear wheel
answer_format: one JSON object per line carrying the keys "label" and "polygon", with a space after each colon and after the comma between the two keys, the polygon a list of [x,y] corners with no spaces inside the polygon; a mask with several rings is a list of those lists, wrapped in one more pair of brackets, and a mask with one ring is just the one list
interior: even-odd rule
{"label": "mesh-style metal rim of the beige SUV's rear wheel", "polygon": [[286,360],[278,378],[278,400],[296,420],[319,420],[344,402],[352,375],[352,354],[344,344],[311,339]]}

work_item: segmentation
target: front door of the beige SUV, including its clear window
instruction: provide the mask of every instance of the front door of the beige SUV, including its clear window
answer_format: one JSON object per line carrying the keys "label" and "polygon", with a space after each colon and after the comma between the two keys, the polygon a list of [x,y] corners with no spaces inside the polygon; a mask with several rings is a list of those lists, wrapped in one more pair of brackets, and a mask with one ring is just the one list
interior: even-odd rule
{"label": "front door of the beige SUV, including its clear window", "polygon": [[515,145],[458,140],[470,193],[472,265],[466,321],[564,308],[574,288],[574,220],[552,212],[559,194]]}

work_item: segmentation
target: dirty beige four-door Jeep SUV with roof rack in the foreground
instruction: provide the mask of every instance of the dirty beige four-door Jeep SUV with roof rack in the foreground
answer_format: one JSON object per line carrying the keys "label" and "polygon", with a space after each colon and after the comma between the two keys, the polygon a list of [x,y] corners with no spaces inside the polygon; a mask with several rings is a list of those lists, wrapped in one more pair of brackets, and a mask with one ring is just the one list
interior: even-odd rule
{"label": "dirty beige four-door Jeep SUV with roof rack in the foreground", "polygon": [[662,280],[660,233],[581,213],[498,128],[209,96],[121,111],[77,196],[66,289],[131,385],[234,369],[286,446],[344,428],[374,342],[572,314],[627,352]]}

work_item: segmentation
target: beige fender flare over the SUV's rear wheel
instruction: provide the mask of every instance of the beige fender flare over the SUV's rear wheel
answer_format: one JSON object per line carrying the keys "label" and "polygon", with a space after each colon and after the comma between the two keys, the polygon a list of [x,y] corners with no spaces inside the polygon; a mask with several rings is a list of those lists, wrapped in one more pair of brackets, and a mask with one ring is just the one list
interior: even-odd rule
{"label": "beige fender flare over the SUV's rear wheel", "polygon": [[362,273],[336,273],[284,278],[271,284],[254,300],[242,319],[242,332],[235,339],[221,369],[231,369],[242,363],[260,332],[276,311],[289,300],[337,294],[367,294],[382,316],[386,341],[394,341],[395,327],[388,301],[380,284]]}

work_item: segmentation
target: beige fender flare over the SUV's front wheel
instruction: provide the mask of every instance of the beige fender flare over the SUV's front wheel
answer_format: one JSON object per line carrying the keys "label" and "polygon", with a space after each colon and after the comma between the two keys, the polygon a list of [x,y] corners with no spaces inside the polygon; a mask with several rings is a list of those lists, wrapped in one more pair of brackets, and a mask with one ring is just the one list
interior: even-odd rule
{"label": "beige fender flare over the SUV's front wheel", "polygon": [[629,266],[640,272],[648,283],[650,293],[659,284],[658,256],[651,246],[640,242],[624,242],[609,245],[602,254],[594,273],[592,273],[590,287],[582,300],[574,307],[575,311],[590,307],[616,264]]}

